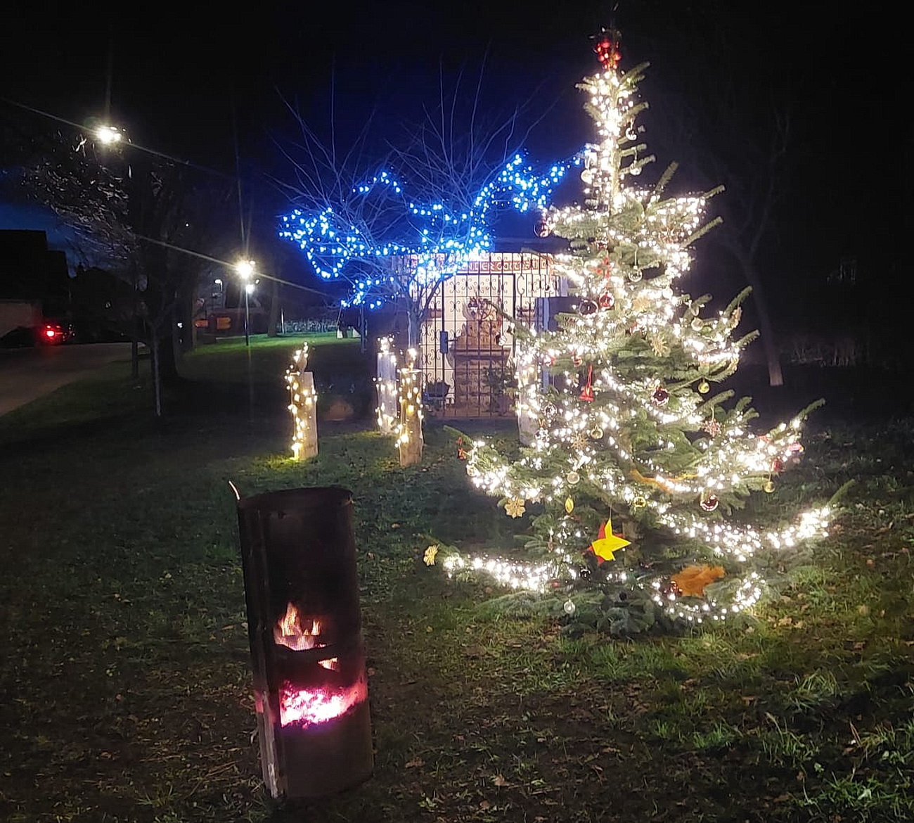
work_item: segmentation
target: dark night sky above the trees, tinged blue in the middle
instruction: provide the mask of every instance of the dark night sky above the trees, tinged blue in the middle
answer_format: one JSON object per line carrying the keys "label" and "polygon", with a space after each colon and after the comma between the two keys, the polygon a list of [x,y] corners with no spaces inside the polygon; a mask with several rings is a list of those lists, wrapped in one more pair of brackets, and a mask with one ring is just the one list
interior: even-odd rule
{"label": "dark night sky above the trees, tinged blue in the middle", "polygon": [[[843,257],[858,258],[860,276],[875,282],[898,263],[914,229],[900,21],[725,0],[354,2],[309,13],[312,6],[122,4],[102,14],[61,4],[54,14],[14,3],[0,96],[82,122],[103,113],[110,77],[112,119],[127,124],[135,143],[231,172],[237,135],[246,174],[262,178],[284,173],[274,145],[293,132],[283,96],[323,130],[335,77],[341,131],[376,110],[378,139],[396,139],[434,102],[440,73],[452,83],[463,69],[472,84],[484,65],[484,105],[497,112],[526,102],[530,119],[541,118],[531,152],[551,160],[592,137],[574,84],[597,68],[588,37],[618,6],[622,68],[652,63],[642,91],[652,107],[644,123],[656,174],[675,159],[684,185],[703,182],[690,157],[674,154],[687,145],[676,134],[679,112],[713,110],[733,91],[739,104],[729,125],[749,139],[771,111],[791,112],[792,172],[766,250],[772,285],[824,278]],[[694,135],[692,148],[726,139],[722,160],[744,155],[729,132],[706,134]],[[270,230],[269,212],[282,209],[282,198],[265,202],[258,219]],[[9,209],[0,215],[9,226]]]}

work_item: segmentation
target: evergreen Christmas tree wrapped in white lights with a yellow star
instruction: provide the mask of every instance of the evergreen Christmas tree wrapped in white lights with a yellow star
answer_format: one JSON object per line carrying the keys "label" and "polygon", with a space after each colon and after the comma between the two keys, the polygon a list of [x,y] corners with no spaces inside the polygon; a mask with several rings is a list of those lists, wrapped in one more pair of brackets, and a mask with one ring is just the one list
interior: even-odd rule
{"label": "evergreen Christmas tree wrapped in white lights with a yellow star", "polygon": [[599,602],[622,632],[722,620],[759,600],[761,556],[824,533],[827,508],[773,531],[730,519],[751,493],[777,492],[809,410],[755,433],[749,399],[712,388],[755,337],[736,335],[748,290],[711,311],[709,297],[678,289],[717,222],[704,217],[717,190],[667,195],[675,166],[645,185],[647,64],[620,70],[614,32],[595,50],[601,70],[579,84],[599,138],[584,150],[583,207],[549,208],[537,224],[569,241],[556,265],[575,299],[556,330],[515,329],[517,411],[533,437],[519,455],[484,441],[466,452],[473,483],[507,515],[531,518],[530,561],[445,565],[515,589],[567,589],[566,612]]}

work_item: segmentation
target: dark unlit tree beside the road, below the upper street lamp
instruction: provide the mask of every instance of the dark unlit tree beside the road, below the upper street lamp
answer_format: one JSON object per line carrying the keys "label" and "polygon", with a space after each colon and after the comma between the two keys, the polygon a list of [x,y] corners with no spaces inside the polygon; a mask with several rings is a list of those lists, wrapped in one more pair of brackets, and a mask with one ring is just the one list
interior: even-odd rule
{"label": "dark unlit tree beside the road, below the upper street lamp", "polygon": [[204,269],[204,258],[186,251],[212,247],[214,216],[229,187],[204,186],[186,166],[142,151],[129,160],[103,156],[86,136],[64,133],[38,147],[23,183],[76,232],[95,266],[126,285],[115,290],[119,314],[132,335],[134,363],[138,342],[150,348],[161,416],[163,384],[178,378],[176,317],[193,305]]}

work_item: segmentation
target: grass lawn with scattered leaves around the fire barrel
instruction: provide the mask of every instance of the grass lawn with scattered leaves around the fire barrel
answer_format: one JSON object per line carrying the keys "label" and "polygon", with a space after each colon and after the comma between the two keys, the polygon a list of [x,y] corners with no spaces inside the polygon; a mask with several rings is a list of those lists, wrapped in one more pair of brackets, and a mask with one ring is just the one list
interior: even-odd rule
{"label": "grass lawn with scattered leaves around the fire barrel", "polygon": [[[250,379],[243,344],[199,349],[164,424],[123,364],[0,418],[0,819],[914,818],[910,421],[813,420],[749,515],[856,486],[750,625],[570,637],[423,564],[518,523],[433,422],[418,467],[353,423],[288,459],[294,342],[255,339]],[[312,342],[324,392],[364,389],[356,347]],[[229,480],[355,493],[376,772],[320,803],[276,807],[260,781]]]}

